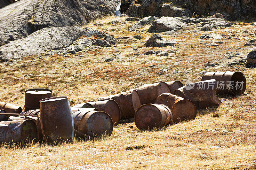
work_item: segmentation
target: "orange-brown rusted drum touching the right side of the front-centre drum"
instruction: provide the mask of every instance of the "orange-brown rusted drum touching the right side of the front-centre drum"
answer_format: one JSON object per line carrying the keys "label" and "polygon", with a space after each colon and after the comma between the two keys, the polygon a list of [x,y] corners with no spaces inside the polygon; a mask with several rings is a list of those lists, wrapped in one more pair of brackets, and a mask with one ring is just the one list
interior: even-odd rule
{"label": "orange-brown rusted drum touching the right side of the front-centre drum", "polygon": [[196,118],[196,106],[188,99],[175,96],[171,93],[163,93],[156,99],[157,104],[164,104],[172,110],[173,122],[194,120]]}

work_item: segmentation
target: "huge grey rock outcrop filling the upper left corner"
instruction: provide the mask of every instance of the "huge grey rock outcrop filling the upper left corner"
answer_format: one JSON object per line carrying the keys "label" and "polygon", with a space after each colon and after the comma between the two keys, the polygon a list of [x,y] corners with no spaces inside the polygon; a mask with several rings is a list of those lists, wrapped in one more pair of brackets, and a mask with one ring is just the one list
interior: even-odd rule
{"label": "huge grey rock outcrop filling the upper left corner", "polygon": [[0,9],[0,46],[44,27],[81,26],[113,14],[116,0],[20,0]]}

